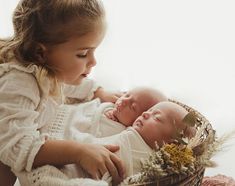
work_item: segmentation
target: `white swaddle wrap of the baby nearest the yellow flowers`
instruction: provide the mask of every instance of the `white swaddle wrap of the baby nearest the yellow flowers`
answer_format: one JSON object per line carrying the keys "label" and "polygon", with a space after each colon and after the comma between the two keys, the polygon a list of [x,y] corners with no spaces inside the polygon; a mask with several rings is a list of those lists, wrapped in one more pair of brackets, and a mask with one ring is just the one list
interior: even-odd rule
{"label": "white swaddle wrap of the baby nearest the yellow flowers", "polygon": [[[78,133],[77,133],[78,134]],[[81,136],[84,135],[84,139]],[[95,144],[115,144],[120,147],[120,150],[116,152],[116,155],[123,161],[125,165],[125,176],[131,176],[136,174],[141,169],[141,160],[147,159],[149,154],[153,151],[138,134],[138,132],[129,127],[125,131],[122,131],[119,134],[104,137],[104,138],[95,138],[92,135],[80,133],[80,142],[83,143],[95,143]],[[84,177],[86,174],[78,166],[70,165],[67,166],[64,170],[66,175],[69,175],[71,178]]]}

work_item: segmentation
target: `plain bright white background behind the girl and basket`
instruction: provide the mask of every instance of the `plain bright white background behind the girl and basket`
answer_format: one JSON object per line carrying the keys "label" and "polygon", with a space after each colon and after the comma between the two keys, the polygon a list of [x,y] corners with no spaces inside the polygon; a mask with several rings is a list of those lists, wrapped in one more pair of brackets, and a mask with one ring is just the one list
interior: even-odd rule
{"label": "plain bright white background behind the girl and basket", "polygon": [[[17,0],[0,0],[0,37]],[[147,85],[203,113],[218,135],[235,129],[234,0],[104,0],[108,30],[92,77],[111,90]],[[214,160],[235,178],[235,140]]]}

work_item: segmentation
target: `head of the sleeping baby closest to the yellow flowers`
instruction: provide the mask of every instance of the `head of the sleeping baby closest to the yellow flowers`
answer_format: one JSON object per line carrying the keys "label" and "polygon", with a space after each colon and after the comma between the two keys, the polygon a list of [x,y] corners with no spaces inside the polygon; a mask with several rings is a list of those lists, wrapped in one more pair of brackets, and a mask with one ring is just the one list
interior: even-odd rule
{"label": "head of the sleeping baby closest to the yellow flowers", "polygon": [[187,114],[188,111],[178,104],[160,102],[139,116],[133,127],[144,141],[155,149],[156,142],[159,146],[173,142],[178,132],[183,132],[185,137],[195,134],[195,128],[182,122]]}

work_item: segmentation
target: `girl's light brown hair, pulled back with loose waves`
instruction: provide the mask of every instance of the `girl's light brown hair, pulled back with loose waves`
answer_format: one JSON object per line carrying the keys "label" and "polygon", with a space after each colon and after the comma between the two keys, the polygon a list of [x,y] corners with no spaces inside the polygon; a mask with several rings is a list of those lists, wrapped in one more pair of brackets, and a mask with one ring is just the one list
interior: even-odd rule
{"label": "girl's light brown hair, pulled back with loose waves", "polygon": [[39,44],[53,46],[94,31],[103,17],[99,0],[21,0],[13,14],[14,36],[0,40],[0,63],[36,64],[55,78],[39,59]]}

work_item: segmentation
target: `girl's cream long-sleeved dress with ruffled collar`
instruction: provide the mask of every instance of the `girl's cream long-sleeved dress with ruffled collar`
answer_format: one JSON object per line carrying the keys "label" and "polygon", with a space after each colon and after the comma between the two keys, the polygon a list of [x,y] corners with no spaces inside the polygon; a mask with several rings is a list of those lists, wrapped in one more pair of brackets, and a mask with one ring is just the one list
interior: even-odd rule
{"label": "girl's cream long-sleeved dress with ruffled collar", "polygon": [[[35,155],[45,140],[59,138],[55,132],[59,128],[53,129],[52,136],[46,130],[62,102],[49,96],[48,79],[38,83],[35,78],[38,70],[36,65],[26,68],[17,63],[0,64],[0,161],[16,175],[32,171]],[[88,101],[97,88],[94,81],[84,79],[80,86],[65,85],[64,94]],[[57,127],[63,128],[68,111],[64,109],[60,114],[63,117]]]}

